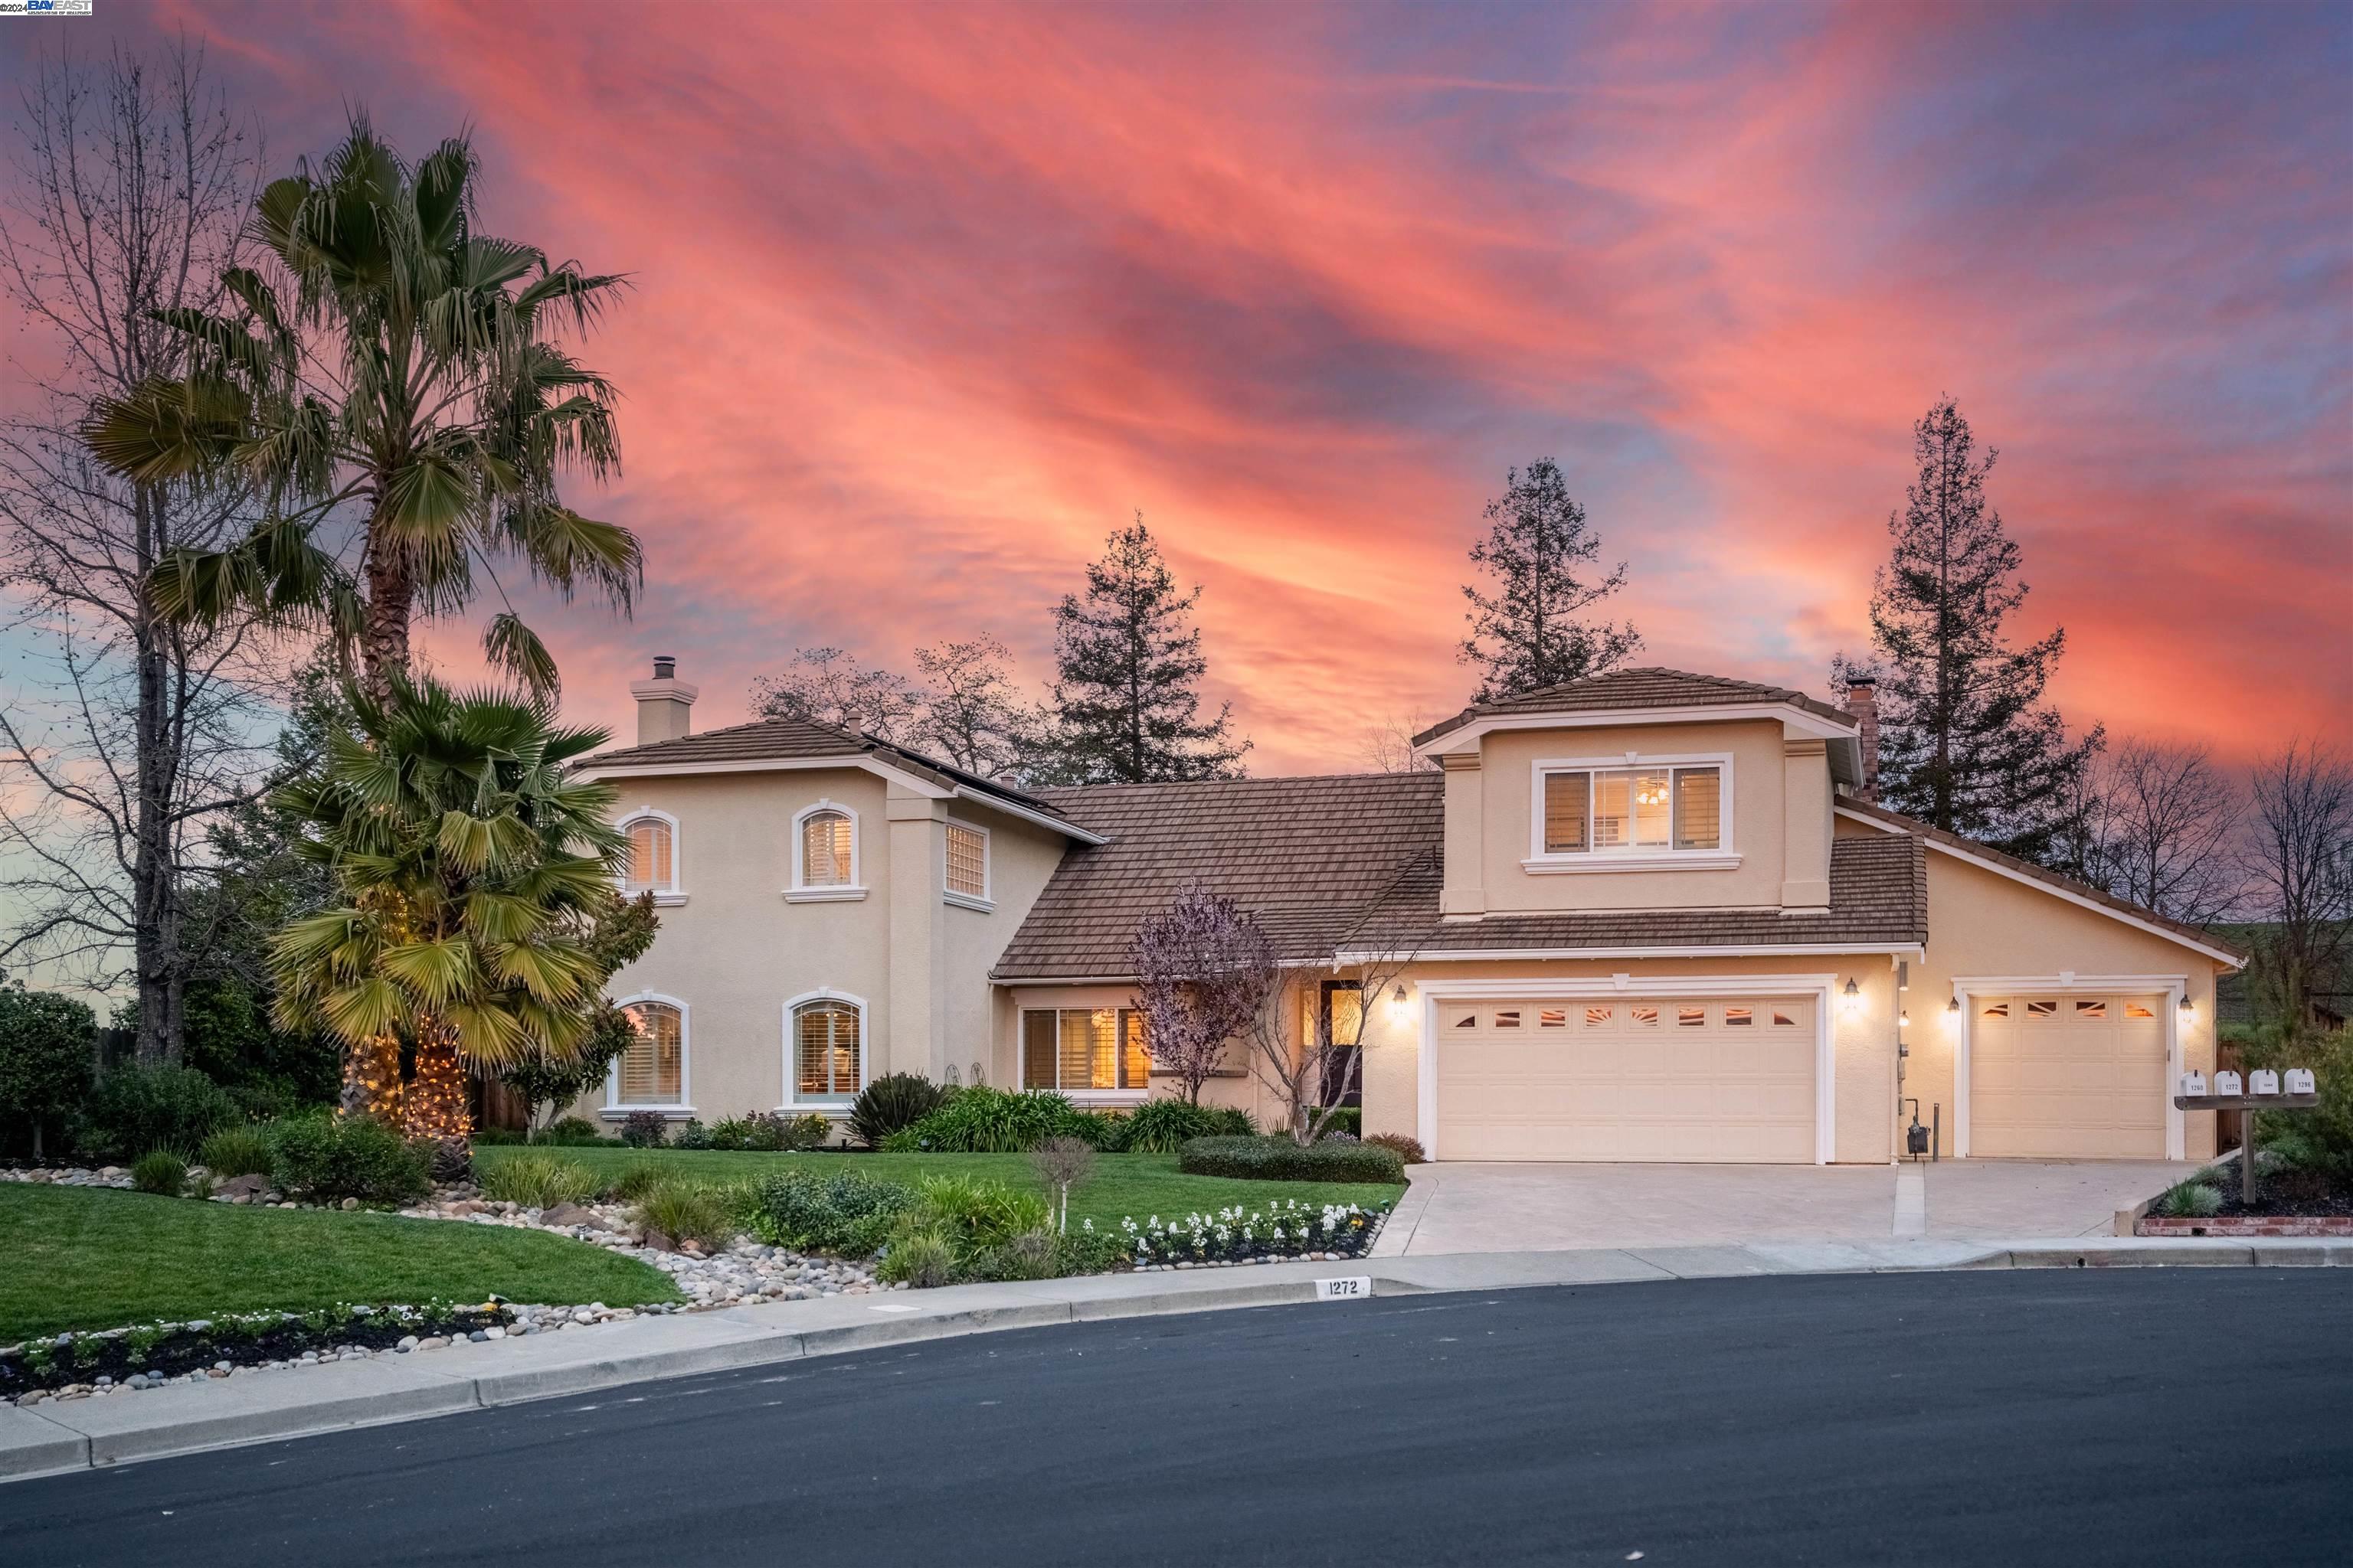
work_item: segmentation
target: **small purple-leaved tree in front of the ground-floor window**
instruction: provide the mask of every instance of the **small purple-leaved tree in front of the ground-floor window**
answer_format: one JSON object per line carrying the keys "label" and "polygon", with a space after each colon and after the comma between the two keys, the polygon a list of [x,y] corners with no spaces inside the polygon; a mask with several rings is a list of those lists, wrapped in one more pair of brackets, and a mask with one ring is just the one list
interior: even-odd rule
{"label": "small purple-leaved tree in front of the ground-floor window", "polygon": [[1200,1105],[1226,1044],[1249,1034],[1282,980],[1259,917],[1200,884],[1136,926],[1134,973],[1144,1048],[1188,1105]]}

